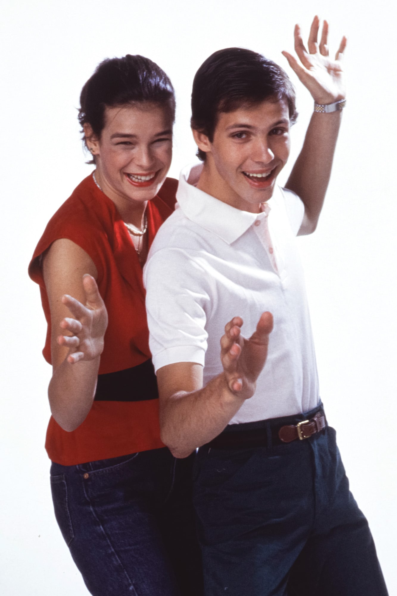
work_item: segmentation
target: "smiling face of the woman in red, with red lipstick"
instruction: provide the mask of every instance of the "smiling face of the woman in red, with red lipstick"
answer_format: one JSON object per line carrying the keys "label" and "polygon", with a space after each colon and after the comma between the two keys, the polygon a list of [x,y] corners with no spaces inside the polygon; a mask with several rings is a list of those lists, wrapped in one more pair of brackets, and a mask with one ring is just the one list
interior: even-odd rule
{"label": "smiling face of the woman in red, with red lipstick", "polygon": [[100,138],[89,125],[85,134],[98,184],[122,216],[156,196],[172,159],[168,109],[153,103],[107,107]]}

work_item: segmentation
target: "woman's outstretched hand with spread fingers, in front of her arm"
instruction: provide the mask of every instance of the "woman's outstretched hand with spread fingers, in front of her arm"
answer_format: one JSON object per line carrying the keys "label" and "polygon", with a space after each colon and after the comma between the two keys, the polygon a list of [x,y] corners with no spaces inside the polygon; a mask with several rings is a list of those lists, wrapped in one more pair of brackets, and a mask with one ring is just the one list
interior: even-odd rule
{"label": "woman's outstretched hand with spread fingers, in front of her arm", "polygon": [[67,356],[70,364],[80,360],[93,360],[103,352],[107,328],[106,306],[91,275],[83,276],[83,288],[86,296],[85,306],[68,294],[64,294],[61,299],[75,317],[66,317],[60,323],[60,327],[72,333],[72,336],[58,337],[58,344],[70,349]]}

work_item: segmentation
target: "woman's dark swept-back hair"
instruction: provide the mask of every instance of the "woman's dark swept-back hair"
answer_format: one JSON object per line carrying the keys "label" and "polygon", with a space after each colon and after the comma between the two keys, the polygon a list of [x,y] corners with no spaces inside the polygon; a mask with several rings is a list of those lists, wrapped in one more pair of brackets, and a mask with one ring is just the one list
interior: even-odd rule
{"label": "woman's dark swept-back hair", "polygon": [[[106,107],[144,101],[168,108],[174,122],[175,92],[168,76],[156,63],[138,54],[106,58],[98,64],[82,88],[78,116],[80,125],[90,124],[94,134],[100,138],[105,126]],[[83,141],[86,145],[84,134]]]}

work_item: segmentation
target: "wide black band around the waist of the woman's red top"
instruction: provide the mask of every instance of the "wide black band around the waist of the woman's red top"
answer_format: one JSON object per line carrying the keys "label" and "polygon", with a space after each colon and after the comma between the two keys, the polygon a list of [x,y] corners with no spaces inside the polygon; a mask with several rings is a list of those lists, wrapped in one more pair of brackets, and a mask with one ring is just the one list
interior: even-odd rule
{"label": "wide black band around the waist of the woman's red top", "polygon": [[157,399],[157,379],[151,358],[136,367],[98,375],[95,401],[141,402]]}

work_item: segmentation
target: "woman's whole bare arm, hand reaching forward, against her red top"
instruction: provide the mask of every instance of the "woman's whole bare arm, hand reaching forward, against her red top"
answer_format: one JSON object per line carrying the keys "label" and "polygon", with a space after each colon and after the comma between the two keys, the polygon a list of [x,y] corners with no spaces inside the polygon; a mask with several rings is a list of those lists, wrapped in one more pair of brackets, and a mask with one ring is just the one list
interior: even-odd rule
{"label": "woman's whole bare arm, hand reaching forward, against her red top", "polygon": [[[72,241],[51,245],[43,272],[52,330],[49,405],[57,423],[70,432],[92,406],[107,313],[95,283],[94,262]],[[83,278],[84,274],[89,275]]]}

